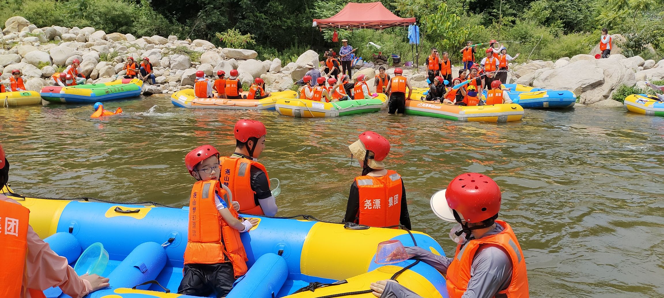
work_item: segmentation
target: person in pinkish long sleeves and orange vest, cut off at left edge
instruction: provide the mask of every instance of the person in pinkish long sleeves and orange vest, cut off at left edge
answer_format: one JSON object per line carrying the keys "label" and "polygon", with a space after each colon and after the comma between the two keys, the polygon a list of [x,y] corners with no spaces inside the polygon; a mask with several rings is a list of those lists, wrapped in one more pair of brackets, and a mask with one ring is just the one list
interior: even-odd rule
{"label": "person in pinkish long sleeves and orange vest, cut off at left edge", "polygon": [[[9,180],[9,162],[0,145],[0,189]],[[108,278],[78,276],[67,259],[58,256],[28,224],[29,209],[0,193],[0,297],[42,298],[43,290],[60,287],[81,298],[103,287]]]}

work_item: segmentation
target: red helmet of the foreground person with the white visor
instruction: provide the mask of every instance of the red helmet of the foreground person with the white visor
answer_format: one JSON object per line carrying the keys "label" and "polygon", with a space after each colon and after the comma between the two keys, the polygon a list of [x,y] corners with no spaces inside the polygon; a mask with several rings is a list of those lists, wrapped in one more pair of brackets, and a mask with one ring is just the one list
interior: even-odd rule
{"label": "red helmet of the foreground person with the white visor", "polygon": [[458,175],[448,185],[445,198],[448,206],[468,223],[485,221],[500,211],[500,187],[482,174]]}

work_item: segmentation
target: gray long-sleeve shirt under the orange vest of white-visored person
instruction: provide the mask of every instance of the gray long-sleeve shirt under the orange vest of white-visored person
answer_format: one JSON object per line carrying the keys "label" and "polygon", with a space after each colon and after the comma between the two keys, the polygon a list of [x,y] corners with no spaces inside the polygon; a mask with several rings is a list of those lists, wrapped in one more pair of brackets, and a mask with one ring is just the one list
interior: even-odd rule
{"label": "gray long-sleeve shirt under the orange vest of white-visored person", "polygon": [[[498,234],[504,230],[500,224],[495,224],[493,230],[483,236]],[[447,274],[448,267],[454,258],[438,256],[418,246],[406,247],[406,252],[412,258],[421,260],[436,268],[440,273]],[[463,298],[491,298],[499,291],[507,289],[512,281],[512,262],[507,252],[499,246],[481,246],[475,253],[473,264],[470,267],[470,281],[463,293]],[[398,283],[387,283],[382,298],[422,298],[413,291]]]}

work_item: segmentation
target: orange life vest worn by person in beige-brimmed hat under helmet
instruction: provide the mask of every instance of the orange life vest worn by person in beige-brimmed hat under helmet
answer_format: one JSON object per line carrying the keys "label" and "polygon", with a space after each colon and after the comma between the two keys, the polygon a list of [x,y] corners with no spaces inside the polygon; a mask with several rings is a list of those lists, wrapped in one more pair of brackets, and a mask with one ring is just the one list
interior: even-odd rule
{"label": "orange life vest worn by person in beige-brimmed hat under helmet", "polygon": [[365,226],[396,226],[401,216],[402,195],[401,176],[392,170],[387,175],[355,177],[360,195],[360,209],[357,218]]}

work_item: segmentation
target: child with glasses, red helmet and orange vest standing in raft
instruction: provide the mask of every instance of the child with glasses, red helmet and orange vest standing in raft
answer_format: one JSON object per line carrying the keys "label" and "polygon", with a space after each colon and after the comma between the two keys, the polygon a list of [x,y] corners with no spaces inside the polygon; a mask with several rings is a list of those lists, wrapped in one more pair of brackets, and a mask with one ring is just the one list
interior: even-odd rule
{"label": "child with glasses, red helmet and orange vest standing in raft", "polygon": [[219,181],[219,152],[214,147],[192,150],[185,165],[197,182],[189,199],[184,276],[177,293],[225,297],[233,282],[247,272],[240,232],[256,226],[258,219],[242,219],[233,209],[230,189]]}

